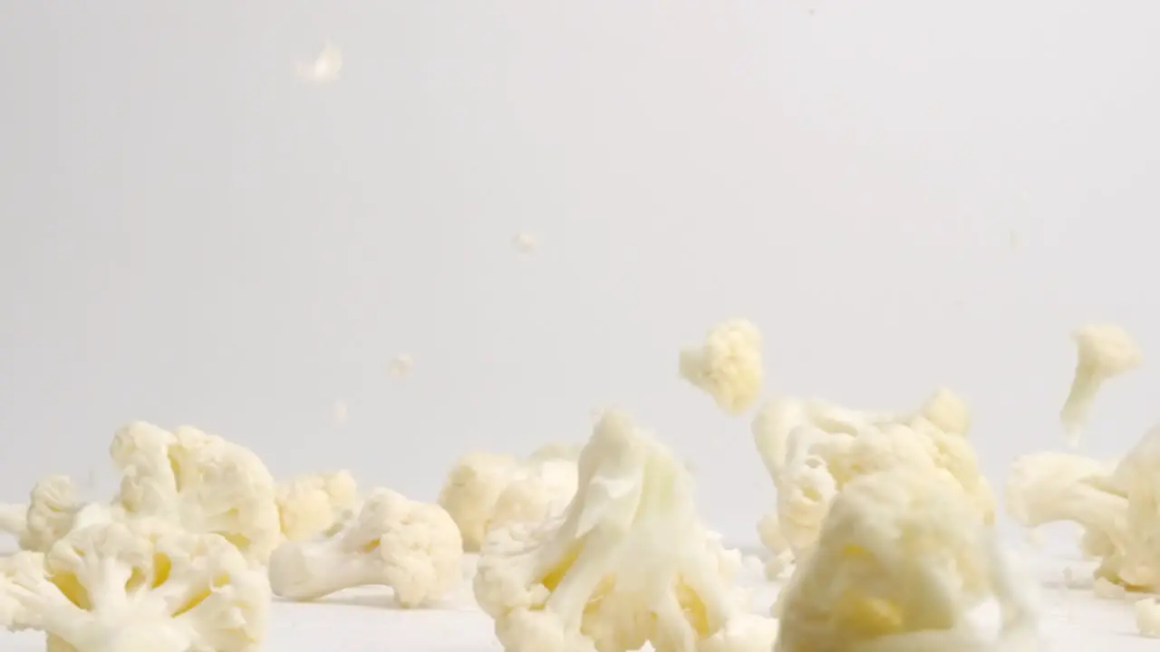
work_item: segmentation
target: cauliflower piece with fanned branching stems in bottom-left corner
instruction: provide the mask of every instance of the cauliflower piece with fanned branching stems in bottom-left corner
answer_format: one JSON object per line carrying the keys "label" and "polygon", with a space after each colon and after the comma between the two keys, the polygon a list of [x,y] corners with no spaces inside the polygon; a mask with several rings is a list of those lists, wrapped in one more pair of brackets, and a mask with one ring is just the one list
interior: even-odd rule
{"label": "cauliflower piece with fanned branching stems in bottom-left corner", "polygon": [[269,604],[227,541],[151,521],[80,528],[0,565],[0,624],[45,631],[55,652],[251,652]]}

